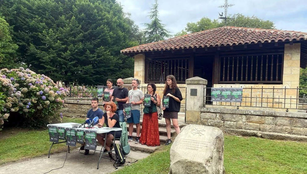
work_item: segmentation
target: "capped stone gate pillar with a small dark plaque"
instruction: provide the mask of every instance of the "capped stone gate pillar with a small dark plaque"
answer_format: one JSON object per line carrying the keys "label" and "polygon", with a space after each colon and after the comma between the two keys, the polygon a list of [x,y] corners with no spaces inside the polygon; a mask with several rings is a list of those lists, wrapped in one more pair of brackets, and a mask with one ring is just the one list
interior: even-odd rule
{"label": "capped stone gate pillar with a small dark plaque", "polygon": [[201,121],[201,108],[204,106],[207,80],[192,77],[186,80],[186,85],[186,123],[198,124]]}

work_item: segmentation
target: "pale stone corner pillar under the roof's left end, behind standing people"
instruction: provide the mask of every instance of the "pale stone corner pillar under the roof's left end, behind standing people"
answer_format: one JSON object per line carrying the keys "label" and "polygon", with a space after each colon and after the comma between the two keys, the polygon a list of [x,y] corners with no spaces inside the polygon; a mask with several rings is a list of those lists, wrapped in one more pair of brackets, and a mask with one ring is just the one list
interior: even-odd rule
{"label": "pale stone corner pillar under the roof's left end, behind standing people", "polygon": [[134,56],[134,77],[144,82],[145,80],[145,55]]}

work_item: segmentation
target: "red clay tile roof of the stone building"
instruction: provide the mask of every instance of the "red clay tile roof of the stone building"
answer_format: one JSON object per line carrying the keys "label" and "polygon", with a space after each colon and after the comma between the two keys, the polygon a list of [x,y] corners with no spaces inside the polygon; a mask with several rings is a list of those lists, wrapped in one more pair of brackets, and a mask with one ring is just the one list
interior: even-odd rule
{"label": "red clay tile roof of the stone building", "polygon": [[244,27],[219,27],[178,36],[164,41],[126,48],[123,54],[146,51],[176,50],[215,46],[232,46],[252,43],[307,40],[307,33],[300,31],[271,30]]}

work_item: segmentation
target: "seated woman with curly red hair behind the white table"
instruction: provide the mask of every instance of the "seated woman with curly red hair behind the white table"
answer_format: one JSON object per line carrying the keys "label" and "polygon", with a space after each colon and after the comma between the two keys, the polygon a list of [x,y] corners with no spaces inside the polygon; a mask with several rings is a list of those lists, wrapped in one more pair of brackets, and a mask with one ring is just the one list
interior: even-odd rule
{"label": "seated woman with curly red hair behind the white table", "polygon": [[[101,121],[97,124],[99,128],[103,126],[104,123],[106,123],[106,127],[108,128],[120,128],[119,124],[119,116],[115,114],[116,111],[116,104],[114,102],[107,102],[105,104],[105,111],[106,113],[103,114]],[[97,140],[98,143],[101,145],[104,145],[104,138],[106,136],[106,151],[110,151],[110,147],[112,144],[112,140],[114,138],[114,131],[107,133],[107,136],[104,133],[97,133]],[[115,138],[120,138],[121,131],[115,132]]]}

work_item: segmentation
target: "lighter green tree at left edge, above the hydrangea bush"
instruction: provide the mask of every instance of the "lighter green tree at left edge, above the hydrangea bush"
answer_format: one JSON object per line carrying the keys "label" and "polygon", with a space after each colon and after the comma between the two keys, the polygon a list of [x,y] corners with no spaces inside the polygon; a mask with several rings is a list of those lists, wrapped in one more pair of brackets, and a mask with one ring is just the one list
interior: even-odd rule
{"label": "lighter green tree at left edge, above the hydrangea bush", "polygon": [[15,68],[16,50],[18,46],[13,43],[8,23],[0,16],[0,69]]}

